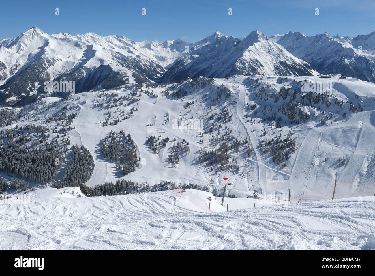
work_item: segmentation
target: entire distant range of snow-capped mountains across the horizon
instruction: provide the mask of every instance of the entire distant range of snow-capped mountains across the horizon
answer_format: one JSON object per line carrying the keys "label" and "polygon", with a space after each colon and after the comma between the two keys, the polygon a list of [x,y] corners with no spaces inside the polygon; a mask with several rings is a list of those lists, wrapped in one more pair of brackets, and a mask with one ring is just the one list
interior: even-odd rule
{"label": "entire distant range of snow-capped mountains across the horizon", "polygon": [[75,81],[75,92],[204,76],[342,74],[375,82],[375,32],[270,38],[254,31],[243,39],[215,32],[201,41],[134,42],[95,33],[48,35],[37,27],[0,40],[0,103],[36,100],[45,81]]}

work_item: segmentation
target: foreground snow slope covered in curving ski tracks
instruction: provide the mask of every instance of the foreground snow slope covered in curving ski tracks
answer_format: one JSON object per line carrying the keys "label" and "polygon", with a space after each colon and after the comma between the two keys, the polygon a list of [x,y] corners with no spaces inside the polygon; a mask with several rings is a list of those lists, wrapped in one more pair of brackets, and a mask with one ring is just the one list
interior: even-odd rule
{"label": "foreground snow slope covered in curving ski tracks", "polygon": [[0,249],[375,248],[373,196],[229,212],[213,200],[208,213],[210,194],[195,190],[181,199],[181,190],[94,198],[42,190],[28,204],[0,201]]}

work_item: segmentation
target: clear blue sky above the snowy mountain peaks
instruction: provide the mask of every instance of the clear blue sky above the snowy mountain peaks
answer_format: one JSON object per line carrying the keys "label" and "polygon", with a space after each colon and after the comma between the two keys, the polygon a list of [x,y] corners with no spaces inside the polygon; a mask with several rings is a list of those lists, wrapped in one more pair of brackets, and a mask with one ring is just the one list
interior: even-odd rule
{"label": "clear blue sky above the snowy mountain peaks", "polygon": [[[93,32],[134,41],[181,38],[189,42],[215,31],[236,37],[253,30],[267,36],[290,30],[309,36],[375,31],[372,0],[2,0],[0,7],[0,39],[18,36],[31,26],[49,34]],[[60,15],[55,15],[55,8]],[[233,15],[228,15],[229,8]]]}

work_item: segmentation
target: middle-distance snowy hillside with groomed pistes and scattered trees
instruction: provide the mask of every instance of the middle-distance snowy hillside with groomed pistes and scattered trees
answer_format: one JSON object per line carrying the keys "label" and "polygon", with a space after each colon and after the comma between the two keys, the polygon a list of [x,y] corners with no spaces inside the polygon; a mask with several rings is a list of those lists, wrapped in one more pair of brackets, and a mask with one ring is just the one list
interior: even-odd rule
{"label": "middle-distance snowy hillside with groomed pistes and scattered trees", "polygon": [[[242,198],[254,195],[266,200],[275,195],[285,198],[290,189],[292,202],[325,200],[332,198],[335,181],[336,198],[372,195],[375,147],[369,141],[375,135],[375,84],[333,76],[329,79],[333,90],[328,97],[302,93],[296,94],[291,101],[294,91],[299,90],[305,80],[320,82],[325,79],[237,76],[209,80],[199,77],[168,86],[109,90],[107,96],[101,95],[102,92],[81,93],[53,107],[48,103],[56,98],[47,98],[45,104],[38,102],[24,111],[17,125],[45,125],[46,116],[61,112],[66,104],[72,106],[72,111],[78,115],[69,131],[70,147],[84,145],[91,152],[95,167],[92,177],[86,182],[90,187],[123,178],[141,186],[159,185],[163,181],[172,181],[176,185],[192,184],[220,194],[222,177],[226,175],[234,183],[226,194]],[[158,97],[147,94],[146,90]],[[172,97],[165,91],[172,94],[186,91],[186,95]],[[226,97],[223,91],[226,91]],[[108,99],[134,93],[139,95],[139,101],[95,107],[95,104],[107,103]],[[313,98],[309,100],[308,95]],[[290,113],[284,113],[288,103],[296,103],[296,106]],[[253,105],[256,108],[251,110]],[[351,111],[350,108],[357,110]],[[135,110],[133,114],[122,120],[123,114],[129,116],[131,109]],[[121,121],[104,126],[103,122],[108,119],[105,113],[108,112],[111,112],[110,122],[117,117]],[[230,121],[223,117],[226,112],[231,116]],[[306,113],[308,118],[305,118]],[[178,128],[176,121],[180,119],[202,119],[203,129]],[[322,119],[326,124],[321,124]],[[140,158],[139,167],[126,176],[119,175],[116,164],[103,158],[100,149],[101,139],[110,131],[122,130],[132,137]],[[160,141],[169,138],[169,142],[156,154],[147,145],[149,136],[156,136]],[[220,168],[219,165],[200,162],[199,151],[219,149],[223,137],[233,145],[228,157],[234,167]],[[263,152],[260,146],[264,147],[266,142],[278,137],[296,139],[296,151],[282,162],[273,161],[271,152]],[[241,141],[238,150],[233,144],[236,139]],[[178,163],[171,164],[168,161],[171,151],[183,140],[189,143],[188,151],[180,155]],[[245,140],[251,146],[250,157],[243,146]]]}

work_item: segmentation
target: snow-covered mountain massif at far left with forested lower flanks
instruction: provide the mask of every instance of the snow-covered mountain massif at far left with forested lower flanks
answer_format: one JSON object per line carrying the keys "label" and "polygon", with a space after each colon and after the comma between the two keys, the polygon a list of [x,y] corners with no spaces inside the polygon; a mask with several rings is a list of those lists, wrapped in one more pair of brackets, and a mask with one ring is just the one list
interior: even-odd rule
{"label": "snow-covered mountain massif at far left with forested lower flanks", "polygon": [[31,27],[17,38],[0,41],[0,102],[33,101],[38,88],[50,80],[75,81],[76,93],[154,81],[189,45],[180,39],[134,42],[94,33],[48,35]]}

